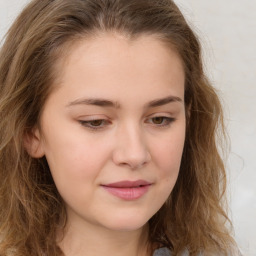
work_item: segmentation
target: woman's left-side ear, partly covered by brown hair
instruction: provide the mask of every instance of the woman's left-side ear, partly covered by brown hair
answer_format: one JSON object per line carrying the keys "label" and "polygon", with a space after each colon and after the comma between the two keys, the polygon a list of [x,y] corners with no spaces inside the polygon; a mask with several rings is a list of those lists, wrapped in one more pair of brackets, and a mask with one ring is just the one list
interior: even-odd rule
{"label": "woman's left-side ear, partly covered by brown hair", "polygon": [[42,136],[38,128],[26,132],[23,138],[23,143],[26,151],[33,158],[41,158],[44,156]]}

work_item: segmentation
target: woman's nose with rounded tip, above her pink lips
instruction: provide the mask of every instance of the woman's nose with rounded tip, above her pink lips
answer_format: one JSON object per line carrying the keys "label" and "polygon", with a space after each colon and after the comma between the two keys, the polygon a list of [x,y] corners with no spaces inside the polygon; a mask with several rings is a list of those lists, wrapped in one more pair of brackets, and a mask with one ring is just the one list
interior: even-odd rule
{"label": "woman's nose with rounded tip, above her pink lips", "polygon": [[113,162],[130,169],[139,169],[148,164],[151,155],[143,131],[130,125],[117,132],[116,145],[113,151]]}

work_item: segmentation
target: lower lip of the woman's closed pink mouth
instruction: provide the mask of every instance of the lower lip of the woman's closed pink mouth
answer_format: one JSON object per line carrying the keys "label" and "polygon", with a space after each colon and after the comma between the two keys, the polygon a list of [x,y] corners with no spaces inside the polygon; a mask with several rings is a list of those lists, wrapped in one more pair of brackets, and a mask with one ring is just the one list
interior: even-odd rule
{"label": "lower lip of the woman's closed pink mouth", "polygon": [[150,185],[134,187],[134,188],[116,188],[102,186],[110,194],[124,200],[136,200],[142,197],[149,190]]}

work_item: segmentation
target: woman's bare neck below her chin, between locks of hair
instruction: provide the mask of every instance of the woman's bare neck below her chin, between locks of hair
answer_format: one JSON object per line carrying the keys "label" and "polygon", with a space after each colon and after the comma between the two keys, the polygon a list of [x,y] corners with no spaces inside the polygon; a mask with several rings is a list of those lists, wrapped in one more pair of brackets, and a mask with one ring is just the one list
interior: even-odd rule
{"label": "woman's bare neck below her chin, between locks of hair", "polygon": [[133,231],[113,231],[100,226],[68,224],[59,243],[65,256],[148,256],[148,226]]}

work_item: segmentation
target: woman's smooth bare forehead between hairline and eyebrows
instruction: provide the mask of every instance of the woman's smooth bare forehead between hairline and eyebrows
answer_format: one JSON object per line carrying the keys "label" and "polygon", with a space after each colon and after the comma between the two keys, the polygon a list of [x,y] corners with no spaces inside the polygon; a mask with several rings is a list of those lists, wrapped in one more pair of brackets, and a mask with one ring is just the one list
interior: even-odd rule
{"label": "woman's smooth bare forehead between hairline and eyebrows", "polygon": [[[175,50],[153,35],[128,38],[118,33],[80,39],[58,61],[59,86],[107,96],[113,90],[133,95],[140,91],[184,92],[184,69]],[[177,87],[177,88],[176,88]],[[88,90],[87,90],[88,89]],[[96,95],[99,94],[100,95]],[[128,94],[126,95],[128,97]],[[139,96],[139,95],[137,95]]]}

